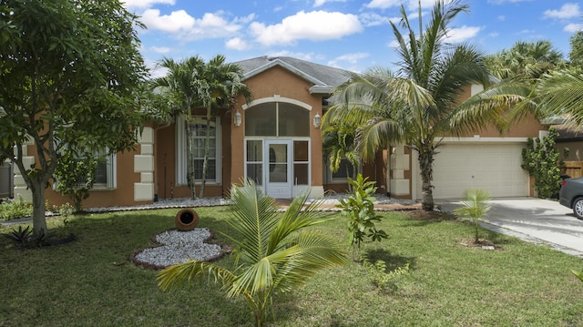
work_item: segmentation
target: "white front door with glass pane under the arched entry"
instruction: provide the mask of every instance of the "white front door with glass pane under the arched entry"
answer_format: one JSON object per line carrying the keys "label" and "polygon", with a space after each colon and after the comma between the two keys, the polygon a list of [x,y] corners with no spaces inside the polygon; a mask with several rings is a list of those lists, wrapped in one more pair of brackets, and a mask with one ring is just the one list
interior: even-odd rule
{"label": "white front door with glass pane under the arched entry", "polygon": [[275,199],[292,198],[292,141],[265,140],[265,192]]}

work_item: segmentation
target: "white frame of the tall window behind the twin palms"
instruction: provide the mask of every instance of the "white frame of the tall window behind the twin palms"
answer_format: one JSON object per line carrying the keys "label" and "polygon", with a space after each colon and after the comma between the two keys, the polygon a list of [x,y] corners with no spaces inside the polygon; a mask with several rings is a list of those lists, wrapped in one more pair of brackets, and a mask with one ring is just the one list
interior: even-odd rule
{"label": "white frame of the tall window behind the twin palms", "polygon": [[[206,118],[195,116],[193,119],[200,119],[206,124]],[[187,158],[188,151],[186,148],[186,119],[180,115],[176,118],[176,185],[185,186],[187,182]],[[207,184],[220,185],[222,182],[222,131],[220,127],[220,117],[215,118],[215,176],[216,179],[207,179]],[[201,179],[197,179],[198,181]]]}

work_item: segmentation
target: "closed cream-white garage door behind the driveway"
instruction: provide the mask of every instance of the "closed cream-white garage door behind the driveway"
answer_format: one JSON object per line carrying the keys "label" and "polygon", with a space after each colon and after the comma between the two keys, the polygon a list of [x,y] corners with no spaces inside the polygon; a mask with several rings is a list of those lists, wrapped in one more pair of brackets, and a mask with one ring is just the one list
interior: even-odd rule
{"label": "closed cream-white garage door behind the driveway", "polygon": [[[528,174],[520,168],[525,144],[455,144],[438,148],[434,198],[461,198],[465,189],[485,189],[493,198],[528,196]],[[417,179],[421,197],[421,178]]]}

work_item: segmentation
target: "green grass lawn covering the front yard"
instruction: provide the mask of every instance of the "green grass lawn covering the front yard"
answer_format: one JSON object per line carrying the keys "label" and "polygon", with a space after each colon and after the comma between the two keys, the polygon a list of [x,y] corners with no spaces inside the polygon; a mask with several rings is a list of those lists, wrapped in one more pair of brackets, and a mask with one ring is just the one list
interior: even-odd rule
{"label": "green grass lawn covering the front yard", "polygon": [[[197,209],[199,227],[227,231],[227,207]],[[245,301],[227,299],[206,282],[159,291],[157,271],[129,255],[174,227],[178,209],[89,214],[49,225],[77,240],[18,250],[0,245],[0,326],[251,326]],[[383,242],[366,243],[389,269],[410,264],[382,291],[359,264],[322,271],[276,299],[271,326],[580,326],[583,283],[571,274],[583,262],[567,254],[480,230],[501,250],[466,248],[473,226],[386,213]],[[345,222],[318,227],[345,237]],[[3,228],[3,233],[11,229]],[[219,233],[216,233],[219,240]],[[231,266],[233,256],[218,261]]]}

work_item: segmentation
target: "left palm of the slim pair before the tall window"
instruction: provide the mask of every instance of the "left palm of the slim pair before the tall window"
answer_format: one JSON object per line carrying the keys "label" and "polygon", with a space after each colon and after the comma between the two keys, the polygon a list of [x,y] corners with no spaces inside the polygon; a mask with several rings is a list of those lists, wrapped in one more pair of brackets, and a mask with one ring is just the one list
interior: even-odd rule
{"label": "left palm of the slim pair before the tall window", "polygon": [[194,167],[194,144],[192,140],[192,109],[199,104],[200,74],[204,70],[204,60],[199,56],[191,56],[181,62],[171,58],[163,58],[158,66],[168,69],[164,77],[152,79],[152,88],[166,92],[172,99],[177,110],[186,119],[186,144],[188,152],[187,183],[190,198],[196,199],[196,175]]}

